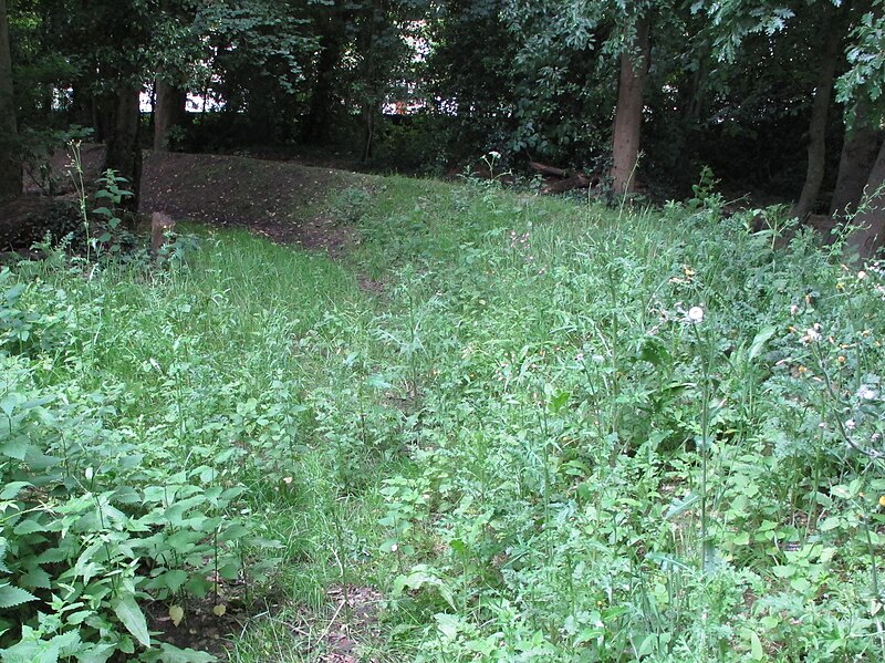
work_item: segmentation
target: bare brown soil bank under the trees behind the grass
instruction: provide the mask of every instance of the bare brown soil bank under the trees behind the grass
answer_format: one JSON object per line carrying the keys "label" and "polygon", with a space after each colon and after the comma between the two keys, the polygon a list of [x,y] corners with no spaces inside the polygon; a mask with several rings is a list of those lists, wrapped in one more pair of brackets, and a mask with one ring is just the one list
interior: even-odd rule
{"label": "bare brown soil bank under the trees behind the grass", "polygon": [[[93,185],[101,175],[104,147],[81,148],[83,179]],[[51,200],[75,196],[71,157],[52,159],[53,197],[25,176],[25,196],[0,205],[0,250],[27,249],[43,237],[39,219]],[[280,244],[323,250],[340,257],[357,241],[356,230],[327,210],[330,194],[347,187],[368,187],[371,176],[330,167],[305,166],[242,156],[145,153],[139,211],[168,214],[177,220],[248,228]]]}

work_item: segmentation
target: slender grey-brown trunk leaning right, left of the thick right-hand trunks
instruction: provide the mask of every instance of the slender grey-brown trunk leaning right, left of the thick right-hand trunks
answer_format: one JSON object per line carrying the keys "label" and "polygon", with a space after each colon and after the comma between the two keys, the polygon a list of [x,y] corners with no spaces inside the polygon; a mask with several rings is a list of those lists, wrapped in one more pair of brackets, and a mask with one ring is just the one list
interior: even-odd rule
{"label": "slender grey-brown trunk leaning right, left of the thick right-hand trunks", "polygon": [[[825,13],[826,18],[833,11]],[[826,21],[830,23],[830,21]],[[830,100],[833,96],[833,82],[836,75],[836,63],[842,45],[842,29],[829,24],[824,29],[823,61],[818,77],[818,87],[814,93],[814,103],[811,106],[811,122],[809,123],[809,165],[805,172],[805,184],[799,196],[799,203],[793,208],[793,216],[804,220],[815,211],[818,195],[821,193],[825,159],[826,159],[826,115],[830,111]]]}

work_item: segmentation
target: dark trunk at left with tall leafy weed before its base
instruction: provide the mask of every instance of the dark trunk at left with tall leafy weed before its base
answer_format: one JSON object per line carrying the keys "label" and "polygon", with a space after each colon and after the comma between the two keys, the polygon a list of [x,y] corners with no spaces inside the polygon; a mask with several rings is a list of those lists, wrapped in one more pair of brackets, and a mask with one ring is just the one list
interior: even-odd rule
{"label": "dark trunk at left with tall leafy weed before its base", "polygon": [[142,182],[142,146],[138,142],[142,115],[138,108],[138,87],[122,85],[116,96],[116,112],[107,136],[105,168],[113,168],[128,180],[132,198],[123,207],[136,211]]}

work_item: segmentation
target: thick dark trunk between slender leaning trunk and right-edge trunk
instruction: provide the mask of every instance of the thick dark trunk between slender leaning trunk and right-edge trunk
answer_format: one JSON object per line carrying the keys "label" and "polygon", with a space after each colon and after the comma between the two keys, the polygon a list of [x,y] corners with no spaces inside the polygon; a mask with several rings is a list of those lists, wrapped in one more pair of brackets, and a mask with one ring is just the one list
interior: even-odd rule
{"label": "thick dark trunk between slender leaning trunk and right-edge trunk", "polygon": [[861,101],[855,111],[854,125],[845,128],[836,188],[830,205],[832,216],[848,217],[857,209],[870,170],[876,160],[877,138],[878,132],[870,121],[865,103]]}

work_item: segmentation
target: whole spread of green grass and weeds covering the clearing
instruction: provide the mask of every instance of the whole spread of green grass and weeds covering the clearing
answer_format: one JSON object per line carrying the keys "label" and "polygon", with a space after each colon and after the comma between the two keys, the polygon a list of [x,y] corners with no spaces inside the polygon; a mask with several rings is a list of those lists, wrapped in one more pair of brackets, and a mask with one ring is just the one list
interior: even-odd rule
{"label": "whole spread of green grass and weeds covering the clearing", "polygon": [[3,273],[4,660],[199,660],[139,605],[206,604],[239,661],[885,657],[875,265],[716,196],[331,205],[346,263]]}

